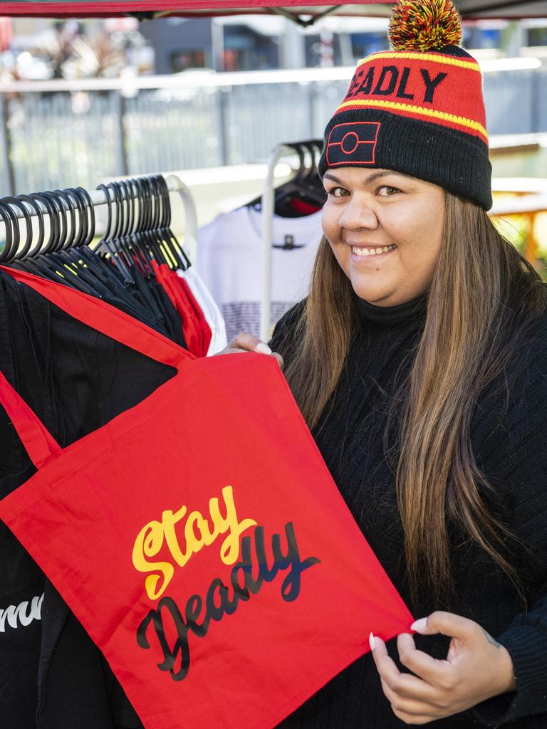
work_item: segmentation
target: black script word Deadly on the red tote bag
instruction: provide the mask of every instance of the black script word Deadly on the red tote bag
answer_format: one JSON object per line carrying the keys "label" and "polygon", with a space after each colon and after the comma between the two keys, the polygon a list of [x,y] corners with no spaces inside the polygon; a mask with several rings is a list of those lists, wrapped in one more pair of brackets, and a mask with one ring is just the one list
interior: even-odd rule
{"label": "black script word Deadly on the red tote bag", "polygon": [[[255,555],[258,564],[258,576],[255,580],[252,577],[251,538],[241,539],[241,561],[235,564],[230,573],[230,584],[233,588],[233,599],[229,599],[229,589],[220,577],[215,577],[209,585],[205,599],[205,615],[203,622],[199,624],[198,618],[203,610],[203,600],[199,595],[192,595],[187,600],[185,617],[179,610],[176,602],[170,597],[163,597],[158,602],[155,610],[150,610],[137,629],[136,640],[141,648],[149,649],[150,642],[147,638],[147,631],[150,625],[153,626],[158,638],[160,649],[163,652],[163,660],[158,663],[160,671],[169,671],[171,679],[182,681],[187,677],[190,669],[190,644],[188,632],[191,631],[198,638],[203,638],[209,631],[211,620],[220,621],[224,615],[233,615],[236,612],[239,601],[249,600],[249,592],[257,594],[264,582],[271,582],[279,571],[291,568],[282,582],[281,595],[286,602],[292,602],[300,594],[300,574],[314,564],[319,563],[317,557],[309,557],[300,560],[300,551],[295,537],[295,529],[292,522],[285,525],[285,536],[287,537],[287,552],[283,553],[281,547],[281,535],[274,534],[271,539],[274,564],[268,567],[264,545],[264,528],[257,526],[255,529]],[[243,574],[244,587],[241,587],[238,577]],[[217,599],[218,596],[218,599]],[[164,615],[168,612],[176,629],[176,640],[171,648],[166,638]],[[175,668],[175,663],[180,655],[180,666]]]}

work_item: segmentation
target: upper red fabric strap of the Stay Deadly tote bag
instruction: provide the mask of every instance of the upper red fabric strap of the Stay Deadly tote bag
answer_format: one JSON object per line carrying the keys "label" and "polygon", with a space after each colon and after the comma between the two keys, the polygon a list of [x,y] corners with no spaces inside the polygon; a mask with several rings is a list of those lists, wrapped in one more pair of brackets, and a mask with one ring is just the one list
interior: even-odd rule
{"label": "upper red fabric strap of the Stay Deadly tote bag", "polygon": [[132,316],[115,306],[76,289],[70,289],[64,284],[56,284],[54,281],[34,276],[33,273],[6,266],[0,266],[0,269],[15,278],[15,281],[30,286],[69,316],[81,321],[82,324],[88,324],[89,327],[106,337],[125,344],[150,359],[155,359],[156,362],[168,364],[179,370],[182,364],[195,359],[193,354],[178,344],[171,342],[170,339],[137,319],[133,319]]}

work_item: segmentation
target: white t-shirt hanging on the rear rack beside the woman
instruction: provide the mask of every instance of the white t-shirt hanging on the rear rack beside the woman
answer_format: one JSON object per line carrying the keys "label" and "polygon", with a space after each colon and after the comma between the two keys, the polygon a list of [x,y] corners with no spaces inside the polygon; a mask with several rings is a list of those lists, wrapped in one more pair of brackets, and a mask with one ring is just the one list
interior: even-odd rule
{"label": "white t-shirt hanging on the rear rack beside the woman", "polygon": [[[321,239],[321,212],[272,222],[271,326],[305,297]],[[288,243],[295,246],[284,249]],[[279,247],[276,247],[279,246]],[[263,290],[262,211],[238,208],[198,230],[197,268],[220,307],[228,341],[260,334]]]}

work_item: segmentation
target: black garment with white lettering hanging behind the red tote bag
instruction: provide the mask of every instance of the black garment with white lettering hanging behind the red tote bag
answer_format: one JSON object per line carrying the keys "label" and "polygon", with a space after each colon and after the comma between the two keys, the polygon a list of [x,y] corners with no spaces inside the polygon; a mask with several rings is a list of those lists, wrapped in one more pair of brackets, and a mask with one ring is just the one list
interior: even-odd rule
{"label": "black garment with white lettering hanging behind the red tote bag", "polygon": [[[3,272],[0,309],[0,370],[62,446],[133,407],[174,374],[171,367],[71,319]],[[25,483],[34,467],[2,408],[0,436],[4,496]],[[4,648],[13,654],[9,673],[0,671],[2,729],[141,728],[101,652],[10,537],[0,531],[1,564],[17,563],[28,573],[30,593],[23,599],[42,589],[44,601],[41,620],[0,632],[0,650],[7,639],[11,643]],[[20,631],[34,631],[24,655],[14,643]]]}

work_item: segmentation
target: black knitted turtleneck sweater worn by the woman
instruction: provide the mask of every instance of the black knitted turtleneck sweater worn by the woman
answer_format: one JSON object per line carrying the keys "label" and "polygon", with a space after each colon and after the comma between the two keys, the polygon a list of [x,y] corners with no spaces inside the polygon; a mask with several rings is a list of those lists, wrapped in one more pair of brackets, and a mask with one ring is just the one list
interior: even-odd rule
{"label": "black knitted turtleneck sweater worn by the woman", "polygon": [[[338,386],[314,429],[319,450],[368,543],[414,616],[449,609],[476,620],[510,652],[518,686],[516,693],[492,698],[469,712],[427,726],[547,729],[547,315],[519,350],[511,372],[481,395],[471,425],[473,453],[493,487],[491,493],[481,491],[481,497],[529,546],[529,552],[522,550],[510,558],[527,590],[528,612],[524,612],[505,574],[477,545],[465,541],[457,525],[449,530],[455,596],[440,606],[426,593],[418,604],[411,604],[395,495],[396,455],[395,461],[393,456],[387,459],[383,439],[387,410],[400,378],[411,366],[427,303],[424,297],[387,308],[360,299],[355,303],[360,325]],[[286,360],[290,359],[301,308],[300,303],[279,321],[270,343]],[[396,454],[395,441],[391,445]],[[421,650],[446,658],[448,639],[415,639]],[[395,640],[388,643],[388,650],[396,660]],[[406,726],[393,714],[367,654],[279,728]]]}

